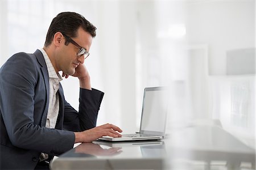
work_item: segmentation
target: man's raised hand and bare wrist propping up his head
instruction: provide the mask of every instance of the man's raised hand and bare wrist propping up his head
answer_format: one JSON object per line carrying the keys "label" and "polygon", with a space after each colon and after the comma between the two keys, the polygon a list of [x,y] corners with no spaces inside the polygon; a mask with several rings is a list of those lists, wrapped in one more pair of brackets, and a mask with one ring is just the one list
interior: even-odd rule
{"label": "man's raised hand and bare wrist propping up his head", "polygon": [[[76,72],[72,76],[76,76],[77,78],[79,78],[80,87],[87,90],[92,90],[92,87],[90,86],[90,75],[85,65],[80,63],[80,65],[77,66],[75,70]],[[69,75],[62,73],[62,76],[68,78]]]}

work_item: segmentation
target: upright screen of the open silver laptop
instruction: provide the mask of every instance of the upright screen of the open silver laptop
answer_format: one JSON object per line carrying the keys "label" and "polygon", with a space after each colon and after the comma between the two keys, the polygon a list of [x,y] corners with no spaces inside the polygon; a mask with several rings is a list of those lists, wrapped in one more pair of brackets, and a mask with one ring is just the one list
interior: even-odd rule
{"label": "upright screen of the open silver laptop", "polygon": [[168,105],[167,96],[167,88],[145,88],[140,133],[164,136]]}

